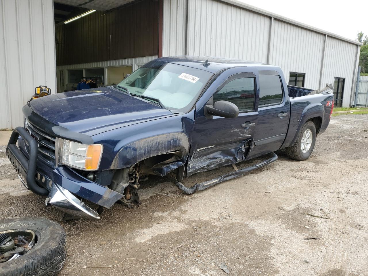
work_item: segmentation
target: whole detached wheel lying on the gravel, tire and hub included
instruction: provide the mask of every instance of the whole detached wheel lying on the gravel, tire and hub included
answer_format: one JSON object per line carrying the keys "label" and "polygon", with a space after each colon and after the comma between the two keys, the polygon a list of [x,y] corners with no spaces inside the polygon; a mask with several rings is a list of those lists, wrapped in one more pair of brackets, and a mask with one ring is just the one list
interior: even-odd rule
{"label": "whole detached wheel lying on the gravel, tire and hub included", "polygon": [[0,220],[0,276],[57,275],[66,257],[59,223],[37,217]]}

